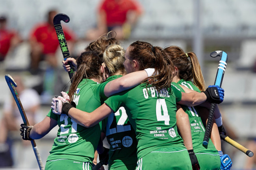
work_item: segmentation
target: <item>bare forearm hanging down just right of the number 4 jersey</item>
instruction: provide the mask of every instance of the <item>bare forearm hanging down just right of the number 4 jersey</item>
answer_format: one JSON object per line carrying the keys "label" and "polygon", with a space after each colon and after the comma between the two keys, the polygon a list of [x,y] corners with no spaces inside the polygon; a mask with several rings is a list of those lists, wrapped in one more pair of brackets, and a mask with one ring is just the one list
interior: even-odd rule
{"label": "bare forearm hanging down just right of the number 4 jersey", "polygon": [[186,146],[187,150],[193,149],[189,117],[179,104],[177,104],[176,119],[177,127],[184,141],[184,145]]}

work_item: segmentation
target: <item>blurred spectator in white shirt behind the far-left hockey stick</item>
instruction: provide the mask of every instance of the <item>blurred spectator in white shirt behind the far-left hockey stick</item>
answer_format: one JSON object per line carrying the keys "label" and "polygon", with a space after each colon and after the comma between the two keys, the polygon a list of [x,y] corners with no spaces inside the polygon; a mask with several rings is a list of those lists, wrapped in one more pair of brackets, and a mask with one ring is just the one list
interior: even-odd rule
{"label": "blurred spectator in white shirt behind the far-left hockey stick", "polygon": [[[40,99],[38,93],[30,88],[26,88],[22,82],[21,77],[14,77],[17,83],[17,93],[19,94],[20,101],[28,118],[30,125],[34,125],[37,122]],[[20,124],[23,123],[22,117],[18,110],[18,107],[10,95],[4,102],[3,116],[0,120],[0,167],[10,167],[13,165],[13,158],[11,153],[12,140],[10,139],[9,132],[19,131]],[[24,146],[30,142],[22,141]],[[31,146],[30,146],[31,147]],[[22,155],[20,155],[22,157]],[[26,162],[26,161],[25,161]]]}

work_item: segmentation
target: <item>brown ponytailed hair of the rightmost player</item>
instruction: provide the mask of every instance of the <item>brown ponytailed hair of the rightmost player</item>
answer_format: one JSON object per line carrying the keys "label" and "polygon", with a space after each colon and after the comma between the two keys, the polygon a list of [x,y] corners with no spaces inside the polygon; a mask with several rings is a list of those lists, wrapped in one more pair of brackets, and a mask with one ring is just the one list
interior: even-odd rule
{"label": "brown ponytailed hair of the rightmost player", "polygon": [[200,91],[204,91],[206,89],[201,67],[195,53],[185,53],[177,46],[170,46],[164,50],[172,60],[174,66],[178,68],[178,76],[180,79],[192,81]]}

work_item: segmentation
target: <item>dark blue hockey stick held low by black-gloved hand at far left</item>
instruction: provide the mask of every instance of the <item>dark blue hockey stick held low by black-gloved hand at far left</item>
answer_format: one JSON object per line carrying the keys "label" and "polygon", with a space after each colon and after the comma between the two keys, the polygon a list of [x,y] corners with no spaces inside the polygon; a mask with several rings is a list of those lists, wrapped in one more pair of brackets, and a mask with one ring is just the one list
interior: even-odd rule
{"label": "dark blue hockey stick held low by black-gloved hand at far left", "polygon": [[[17,87],[17,83],[14,81],[13,77],[11,77],[11,75],[5,75],[5,79],[6,79],[6,82],[7,82],[7,85],[9,86],[10,90],[11,90],[11,94],[13,95],[13,98],[18,106],[18,109],[20,111],[20,115],[22,117],[22,120],[24,122],[24,124],[26,126],[30,126],[29,123],[28,123],[28,119],[27,119],[27,116],[26,116],[26,113],[24,111],[24,108],[20,102],[20,98],[19,98],[19,95],[15,89],[15,87]],[[43,162],[42,162],[42,159],[41,159],[41,156],[39,154],[39,151],[38,151],[38,148],[37,148],[37,145],[35,143],[35,140],[32,140],[31,141],[31,144],[32,144],[32,147],[33,147],[33,150],[34,150],[34,153],[35,153],[35,157],[37,159],[37,163],[38,163],[38,166],[40,168],[40,170],[44,170],[44,166],[43,166]]]}

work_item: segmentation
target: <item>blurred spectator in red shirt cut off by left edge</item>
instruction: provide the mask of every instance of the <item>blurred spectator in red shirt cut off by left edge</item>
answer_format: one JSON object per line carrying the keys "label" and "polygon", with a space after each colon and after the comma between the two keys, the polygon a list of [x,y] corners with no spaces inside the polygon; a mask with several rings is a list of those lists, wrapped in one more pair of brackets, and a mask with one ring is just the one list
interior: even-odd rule
{"label": "blurred spectator in red shirt cut off by left edge", "polygon": [[0,16],[0,62],[6,58],[8,52],[21,42],[17,31],[7,28],[7,17]]}

